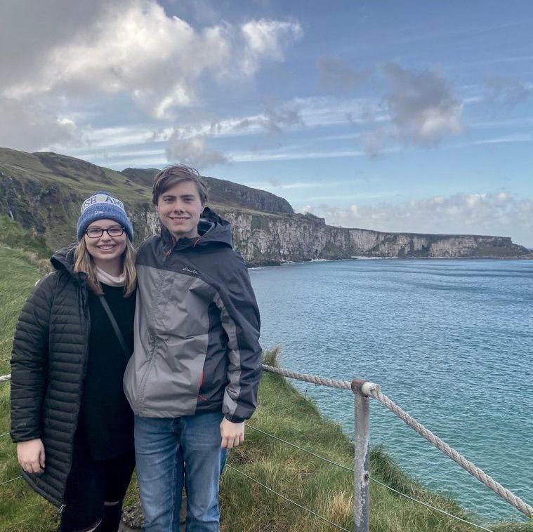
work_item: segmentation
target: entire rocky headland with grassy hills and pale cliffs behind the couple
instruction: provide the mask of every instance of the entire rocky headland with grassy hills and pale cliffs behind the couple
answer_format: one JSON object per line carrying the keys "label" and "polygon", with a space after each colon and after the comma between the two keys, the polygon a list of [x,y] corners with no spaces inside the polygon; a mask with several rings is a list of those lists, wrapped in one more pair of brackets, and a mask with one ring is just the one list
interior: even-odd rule
{"label": "entire rocky headland with grassy hills and pale cliffs behind the couple", "polygon": [[[41,234],[58,248],[74,240],[79,205],[106,189],[124,199],[136,243],[158,230],[151,204],[156,168],[112,171],[55,153],[0,148],[0,214]],[[509,237],[471,234],[379,232],[334,227],[263,190],[206,177],[210,206],[233,225],[235,248],[249,265],[317,259],[533,258]]]}

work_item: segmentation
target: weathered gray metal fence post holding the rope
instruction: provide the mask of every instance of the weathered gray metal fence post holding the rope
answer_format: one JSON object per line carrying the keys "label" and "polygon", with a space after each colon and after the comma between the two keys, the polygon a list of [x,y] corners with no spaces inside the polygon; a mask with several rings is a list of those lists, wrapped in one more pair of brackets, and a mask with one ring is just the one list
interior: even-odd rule
{"label": "weathered gray metal fence post holding the rope", "polygon": [[355,532],[369,532],[369,392],[379,386],[366,380],[354,379],[352,391],[355,399],[354,448],[355,465],[353,480],[353,520]]}

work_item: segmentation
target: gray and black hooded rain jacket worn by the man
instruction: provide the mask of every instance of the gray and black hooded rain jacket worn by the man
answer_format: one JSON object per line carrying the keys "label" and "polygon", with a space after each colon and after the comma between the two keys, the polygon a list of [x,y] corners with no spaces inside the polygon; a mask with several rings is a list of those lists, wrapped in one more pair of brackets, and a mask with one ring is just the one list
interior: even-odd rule
{"label": "gray and black hooded rain jacket worn by the man", "polygon": [[223,411],[235,423],[256,408],[259,312],[229,222],[206,208],[199,237],[150,237],[137,255],[135,350],[124,375],[133,411],[176,418]]}

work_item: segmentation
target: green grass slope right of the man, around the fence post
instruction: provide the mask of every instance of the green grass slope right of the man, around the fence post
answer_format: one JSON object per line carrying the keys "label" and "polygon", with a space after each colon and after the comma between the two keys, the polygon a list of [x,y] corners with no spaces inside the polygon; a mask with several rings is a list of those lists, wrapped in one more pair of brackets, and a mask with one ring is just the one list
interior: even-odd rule
{"label": "green grass slope right of the man, around the fence post", "polygon": [[[268,364],[272,365],[272,354]],[[332,462],[353,467],[353,445],[341,428],[320,415],[312,401],[287,380],[265,373],[259,405],[250,425],[275,434]],[[353,474],[303,451],[246,430],[242,447],[232,451],[230,465],[278,493],[310,508],[343,528],[353,530]],[[430,493],[404,474],[382,448],[370,453],[371,477],[451,514],[480,522],[458,503]],[[377,484],[370,485],[372,532],[467,532],[471,525],[407,500]],[[221,486],[222,530],[261,532],[322,532],[335,528],[287,503],[241,474],[226,470]],[[489,527],[490,528],[490,527]],[[494,531],[527,531],[527,524],[510,524]]]}

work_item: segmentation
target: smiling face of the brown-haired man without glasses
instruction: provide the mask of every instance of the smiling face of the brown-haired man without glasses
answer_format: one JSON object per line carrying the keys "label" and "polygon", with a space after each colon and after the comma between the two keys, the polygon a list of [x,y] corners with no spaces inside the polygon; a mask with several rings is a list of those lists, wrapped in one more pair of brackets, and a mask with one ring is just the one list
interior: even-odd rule
{"label": "smiling face of the brown-haired man without glasses", "polygon": [[195,182],[180,181],[163,192],[157,199],[159,220],[173,237],[198,236],[198,222],[204,210]]}

